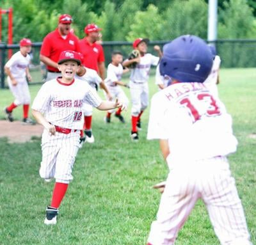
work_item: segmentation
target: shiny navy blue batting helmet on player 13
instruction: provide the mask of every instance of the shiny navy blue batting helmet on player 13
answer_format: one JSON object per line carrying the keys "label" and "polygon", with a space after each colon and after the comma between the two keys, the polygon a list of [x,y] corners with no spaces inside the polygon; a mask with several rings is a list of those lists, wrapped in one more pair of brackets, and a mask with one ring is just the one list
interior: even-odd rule
{"label": "shiny navy blue batting helmet on player 13", "polygon": [[204,83],[211,68],[211,51],[198,36],[179,36],[163,47],[161,75],[169,75],[182,83]]}

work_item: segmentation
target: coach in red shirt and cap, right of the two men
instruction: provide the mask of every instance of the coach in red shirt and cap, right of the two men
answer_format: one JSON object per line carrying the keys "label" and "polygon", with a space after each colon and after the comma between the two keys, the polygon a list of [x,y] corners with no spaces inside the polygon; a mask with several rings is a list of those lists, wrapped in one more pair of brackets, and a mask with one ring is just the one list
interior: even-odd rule
{"label": "coach in red shirt and cap, right of the two men", "polygon": [[84,28],[86,36],[79,41],[80,52],[83,54],[83,65],[96,70],[102,80],[105,78],[105,57],[102,45],[97,43],[99,31],[102,29],[95,24],[88,24]]}

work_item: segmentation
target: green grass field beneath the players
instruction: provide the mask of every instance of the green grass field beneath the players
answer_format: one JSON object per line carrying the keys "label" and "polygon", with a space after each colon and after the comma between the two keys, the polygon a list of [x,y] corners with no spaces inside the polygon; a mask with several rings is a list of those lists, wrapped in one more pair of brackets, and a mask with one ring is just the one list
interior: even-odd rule
{"label": "green grass field beneath the players", "polygon": [[[223,69],[220,77],[220,97],[233,116],[239,140],[237,153],[229,157],[230,167],[256,244],[256,139],[249,137],[256,132],[256,70]],[[32,98],[38,88],[30,86]],[[150,94],[156,91],[151,77]],[[0,90],[0,108],[10,102],[10,91]],[[95,143],[85,144],[77,155],[74,180],[56,226],[44,225],[45,207],[51,201],[54,184],[45,183],[38,174],[40,140],[9,144],[1,138],[0,244],[144,245],[160,198],[152,186],[168,172],[158,142],[146,140],[148,111],[143,115],[143,130],[136,144],[129,135],[130,108],[124,113],[125,125],[117,118],[106,125],[105,113],[95,110]],[[14,115],[20,120],[21,109]],[[176,244],[219,244],[202,202],[196,204]]]}

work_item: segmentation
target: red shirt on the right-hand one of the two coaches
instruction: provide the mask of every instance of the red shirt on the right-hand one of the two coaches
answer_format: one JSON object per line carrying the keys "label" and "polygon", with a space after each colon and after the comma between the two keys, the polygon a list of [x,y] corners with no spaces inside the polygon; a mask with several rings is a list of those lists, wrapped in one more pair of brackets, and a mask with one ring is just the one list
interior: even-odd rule
{"label": "red shirt on the right-hand one of the two coaches", "polygon": [[89,43],[86,37],[79,40],[80,52],[83,54],[83,65],[99,72],[98,62],[104,62],[104,51],[102,45]]}

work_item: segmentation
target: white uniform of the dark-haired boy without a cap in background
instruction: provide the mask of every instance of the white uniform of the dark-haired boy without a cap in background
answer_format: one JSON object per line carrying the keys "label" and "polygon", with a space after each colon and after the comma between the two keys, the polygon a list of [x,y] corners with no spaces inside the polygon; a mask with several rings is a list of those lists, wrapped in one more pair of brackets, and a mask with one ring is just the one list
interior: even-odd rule
{"label": "white uniform of the dark-haired boy without a cap in background", "polygon": [[[126,106],[129,104],[129,100],[125,95],[124,91],[120,87],[120,85],[116,84],[116,81],[122,80],[122,75],[124,73],[124,68],[121,64],[118,64],[116,67],[112,63],[109,63],[107,69],[107,78],[105,79],[106,86],[108,86],[108,90],[113,96],[113,99],[118,98],[119,101],[122,101]],[[105,93],[106,95],[106,93]],[[108,99],[106,95],[106,99]],[[109,110],[109,113],[113,113],[115,109]]]}

